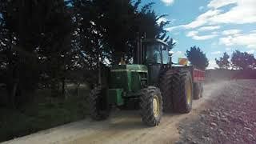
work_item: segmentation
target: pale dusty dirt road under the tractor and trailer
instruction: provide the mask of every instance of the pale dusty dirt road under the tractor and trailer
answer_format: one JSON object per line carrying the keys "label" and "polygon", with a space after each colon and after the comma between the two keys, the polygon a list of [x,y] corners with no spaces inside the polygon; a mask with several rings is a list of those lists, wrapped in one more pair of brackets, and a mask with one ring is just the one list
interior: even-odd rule
{"label": "pale dusty dirt road under the tractor and trailer", "polygon": [[[233,84],[234,83],[234,84]],[[117,111],[103,122],[93,122],[89,118],[42,130],[22,138],[3,142],[23,143],[174,143],[180,138],[179,123],[197,118],[206,109],[209,101],[218,98],[223,90],[237,82],[215,82],[204,86],[203,98],[193,102],[190,114],[164,114],[159,126],[147,127],[141,122],[138,112]],[[240,85],[239,85],[240,86]]]}

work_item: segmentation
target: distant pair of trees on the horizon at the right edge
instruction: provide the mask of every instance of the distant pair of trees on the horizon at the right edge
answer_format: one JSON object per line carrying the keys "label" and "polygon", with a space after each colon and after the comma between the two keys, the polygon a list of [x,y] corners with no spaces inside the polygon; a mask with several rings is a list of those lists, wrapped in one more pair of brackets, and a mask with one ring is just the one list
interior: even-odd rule
{"label": "distant pair of trees on the horizon at the right edge", "polygon": [[256,68],[254,54],[235,50],[230,58],[226,52],[220,58],[215,58],[220,69],[246,70]]}

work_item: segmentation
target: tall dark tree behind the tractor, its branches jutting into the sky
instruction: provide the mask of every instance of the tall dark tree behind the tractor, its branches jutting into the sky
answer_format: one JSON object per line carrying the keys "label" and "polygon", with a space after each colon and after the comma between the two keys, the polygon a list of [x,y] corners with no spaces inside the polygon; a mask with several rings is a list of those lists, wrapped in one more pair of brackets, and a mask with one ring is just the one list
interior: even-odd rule
{"label": "tall dark tree behind the tractor, its branches jutting into the sky", "polygon": [[174,46],[173,40],[166,36],[163,28],[168,22],[157,22],[165,15],[155,14],[152,10],[153,3],[145,6],[140,6],[139,0],[71,0],[70,3],[74,9],[73,19],[78,27],[73,46],[80,51],[79,66],[92,75],[100,66],[98,59],[109,65],[118,63],[121,58],[130,62],[138,34],[146,34],[146,38],[161,38],[169,42],[171,47]]}

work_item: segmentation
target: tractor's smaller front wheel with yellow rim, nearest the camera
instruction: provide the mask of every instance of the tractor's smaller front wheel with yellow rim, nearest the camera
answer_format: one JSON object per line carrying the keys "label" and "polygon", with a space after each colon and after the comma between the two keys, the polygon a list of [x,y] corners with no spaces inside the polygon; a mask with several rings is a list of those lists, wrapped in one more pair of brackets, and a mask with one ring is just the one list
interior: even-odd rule
{"label": "tractor's smaller front wheel with yellow rim, nearest the camera", "polygon": [[162,95],[158,88],[149,86],[141,91],[140,114],[147,126],[158,126],[162,118]]}

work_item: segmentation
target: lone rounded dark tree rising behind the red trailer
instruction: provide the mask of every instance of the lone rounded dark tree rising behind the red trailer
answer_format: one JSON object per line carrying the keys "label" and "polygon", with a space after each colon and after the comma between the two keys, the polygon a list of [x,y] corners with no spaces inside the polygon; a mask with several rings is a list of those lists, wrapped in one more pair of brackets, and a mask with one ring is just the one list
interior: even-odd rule
{"label": "lone rounded dark tree rising behind the red trailer", "polygon": [[191,62],[193,66],[205,70],[209,65],[209,60],[206,58],[206,54],[202,52],[199,47],[190,47],[190,50],[186,50],[186,57]]}

